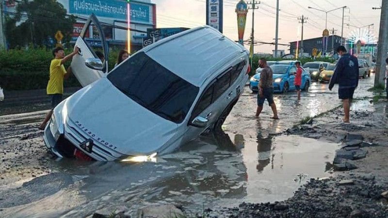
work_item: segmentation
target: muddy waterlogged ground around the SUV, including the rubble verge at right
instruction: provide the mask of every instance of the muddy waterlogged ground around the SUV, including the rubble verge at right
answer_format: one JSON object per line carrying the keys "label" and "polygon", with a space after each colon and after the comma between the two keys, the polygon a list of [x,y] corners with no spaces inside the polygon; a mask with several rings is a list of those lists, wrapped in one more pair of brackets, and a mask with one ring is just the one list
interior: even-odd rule
{"label": "muddy waterlogged ground around the SUV, including the rubble verge at right", "polygon": [[[388,131],[386,102],[372,104],[366,91],[372,81],[360,80],[356,96],[366,100],[353,104],[351,125],[341,124],[340,102],[327,84],[314,83],[301,101],[294,93],[276,94],[276,121],[268,105],[254,118],[257,95],[246,88],[224,134],[202,136],[156,162],[57,159],[37,130],[47,111],[7,106],[11,114],[0,116],[0,217],[88,217],[101,208],[126,208],[134,216],[163,203],[179,205],[188,217],[349,217],[357,205],[365,216],[378,217],[386,209],[376,196],[387,189]],[[314,117],[311,124],[298,125],[307,116]],[[364,136],[369,153],[355,161],[358,169],[335,172],[327,163],[349,132]],[[374,178],[364,181],[371,173]],[[332,178],[310,180],[318,177]],[[338,186],[344,179],[355,185]],[[360,188],[375,197],[358,198]],[[345,203],[335,204],[333,196]]]}

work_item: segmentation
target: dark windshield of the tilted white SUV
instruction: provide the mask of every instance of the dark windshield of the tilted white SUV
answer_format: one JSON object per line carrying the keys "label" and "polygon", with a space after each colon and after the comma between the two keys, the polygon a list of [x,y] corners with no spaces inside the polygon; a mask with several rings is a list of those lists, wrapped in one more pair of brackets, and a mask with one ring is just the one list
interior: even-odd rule
{"label": "dark windshield of the tilted white SUV", "polygon": [[131,56],[107,78],[129,98],[174,123],[181,123],[199,88],[152,60],[144,52]]}

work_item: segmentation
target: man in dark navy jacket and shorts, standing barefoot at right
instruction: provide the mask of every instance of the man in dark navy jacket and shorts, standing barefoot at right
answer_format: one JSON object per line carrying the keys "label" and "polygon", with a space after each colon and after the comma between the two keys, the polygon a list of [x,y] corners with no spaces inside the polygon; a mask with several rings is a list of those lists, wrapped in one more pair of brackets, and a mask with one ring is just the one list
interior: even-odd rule
{"label": "man in dark navy jacket and shorts, standing barefoot at right", "polygon": [[349,112],[352,104],[353,94],[358,86],[358,60],[355,56],[346,53],[346,48],[339,46],[337,48],[339,60],[330,79],[329,90],[334,84],[338,83],[338,96],[342,99],[345,116],[342,119],[344,123],[350,123]]}

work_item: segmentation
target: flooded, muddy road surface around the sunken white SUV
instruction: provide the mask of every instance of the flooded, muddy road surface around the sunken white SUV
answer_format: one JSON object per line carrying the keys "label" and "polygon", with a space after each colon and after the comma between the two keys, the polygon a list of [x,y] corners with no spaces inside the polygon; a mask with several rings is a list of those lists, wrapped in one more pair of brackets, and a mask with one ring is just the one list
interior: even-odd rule
{"label": "flooded, muddy road surface around the sunken white SUV", "polygon": [[[372,84],[373,77],[360,79],[355,98],[371,97],[367,89]],[[0,217],[85,217],[99,208],[135,210],[166,202],[181,204],[194,215],[204,206],[287,199],[308,178],[330,175],[325,162],[333,159],[339,141],[277,134],[307,116],[339,106],[336,90],[330,92],[327,84],[313,83],[299,102],[295,93],[275,94],[280,120],[274,121],[267,103],[260,118],[254,118],[257,95],[246,87],[226,119],[224,135],[202,136],[173,154],[157,157],[156,162],[43,158],[47,155],[41,154],[45,151],[42,134],[34,127],[46,111],[0,116],[0,155],[8,147],[40,148],[39,154],[11,157],[4,150],[2,158],[23,160],[18,170],[38,167],[40,173],[22,178],[12,167],[0,169],[6,172],[1,173],[5,178],[0,187]],[[39,156],[42,160],[36,160]]]}

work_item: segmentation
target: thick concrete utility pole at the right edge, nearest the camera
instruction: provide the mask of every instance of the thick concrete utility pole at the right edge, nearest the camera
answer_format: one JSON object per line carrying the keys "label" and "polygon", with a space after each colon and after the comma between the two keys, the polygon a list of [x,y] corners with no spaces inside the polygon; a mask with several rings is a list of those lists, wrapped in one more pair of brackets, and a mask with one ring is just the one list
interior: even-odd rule
{"label": "thick concrete utility pole at the right edge, nearest the camera", "polygon": [[380,30],[377,43],[376,74],[374,77],[374,87],[384,84],[385,77],[385,59],[387,58],[388,48],[388,0],[381,2]]}

